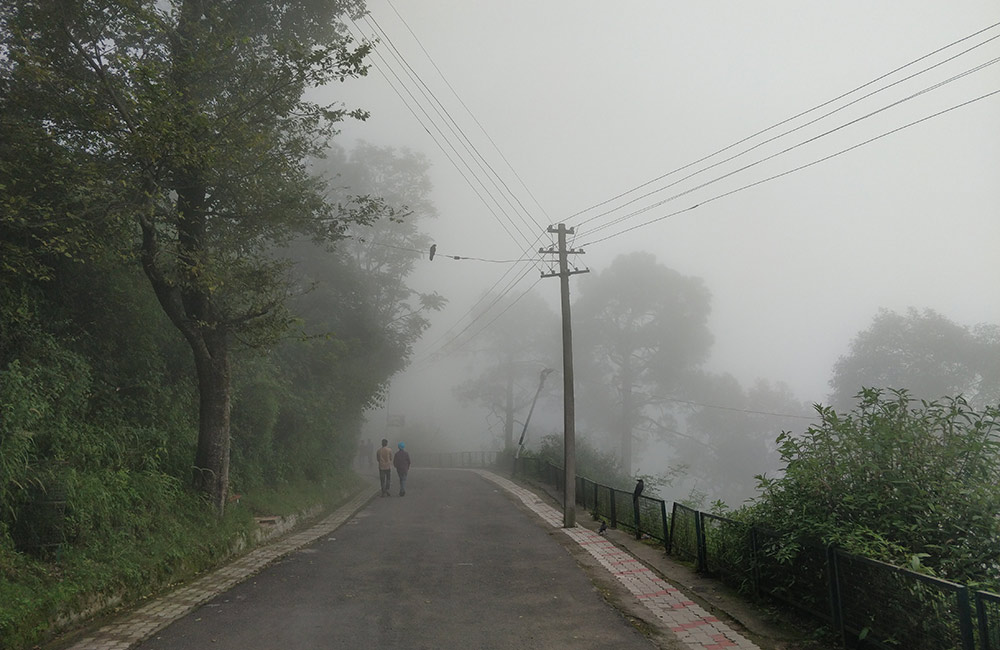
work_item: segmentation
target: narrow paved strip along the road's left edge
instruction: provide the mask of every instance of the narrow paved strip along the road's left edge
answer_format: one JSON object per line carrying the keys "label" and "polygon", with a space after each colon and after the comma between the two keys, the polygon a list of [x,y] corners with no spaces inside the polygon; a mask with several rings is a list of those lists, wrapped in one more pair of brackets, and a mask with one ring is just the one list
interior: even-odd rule
{"label": "narrow paved strip along the road's left edge", "polygon": [[259,573],[275,560],[311,544],[323,535],[329,535],[351,519],[375,494],[373,489],[362,490],[357,496],[316,525],[251,551],[232,564],[206,573],[194,582],[156,598],[124,618],[77,641],[69,646],[68,650],[127,650],[131,648],[196,607]]}

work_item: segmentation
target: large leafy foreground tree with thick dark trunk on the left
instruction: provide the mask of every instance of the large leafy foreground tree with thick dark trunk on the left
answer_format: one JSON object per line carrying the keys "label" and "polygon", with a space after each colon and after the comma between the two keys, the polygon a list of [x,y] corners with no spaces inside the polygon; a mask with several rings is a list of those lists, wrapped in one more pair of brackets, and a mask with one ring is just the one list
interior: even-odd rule
{"label": "large leafy foreground tree with thick dark trunk on the left", "polygon": [[[360,0],[63,0],[0,14],[4,108],[55,169],[87,170],[62,189],[92,220],[132,220],[145,274],[193,352],[194,480],[220,511],[231,347],[287,323],[286,269],[269,249],[300,233],[335,239],[370,216],[368,203],[325,201],[305,166],[336,122],[364,117],[303,99],[364,73],[368,47],[340,22],[362,11]],[[46,222],[83,209],[22,213]]]}

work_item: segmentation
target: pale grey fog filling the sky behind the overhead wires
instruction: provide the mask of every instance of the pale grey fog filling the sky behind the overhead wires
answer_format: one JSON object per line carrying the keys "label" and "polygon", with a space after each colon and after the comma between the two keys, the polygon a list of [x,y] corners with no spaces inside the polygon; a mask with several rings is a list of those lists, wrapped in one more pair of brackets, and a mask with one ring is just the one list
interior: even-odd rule
{"label": "pale grey fog filling the sky behind the overhead wires", "polygon": [[[537,253],[557,223],[576,227],[571,262],[590,275],[641,251],[700,278],[713,338],[701,367],[746,390],[783,384],[799,404],[827,401],[834,364],[880,309],[1000,323],[995,2],[369,9],[351,24],[379,40],[368,77],[320,97],[371,112],[341,146],[431,163],[437,217],[419,228],[437,255],[410,285],[449,301],[371,437],[391,433],[391,414],[447,450],[503,444],[497,414],[456,387],[495,365],[490,328],[532,285],[551,315],[518,318],[537,316],[558,345],[559,280],[539,280],[552,256]],[[574,301],[587,281],[570,279]],[[503,294],[492,309],[477,304],[487,292]],[[561,371],[558,356],[523,363],[515,438],[539,371]],[[529,439],[561,429],[561,387],[549,377]],[[666,449],[637,447],[633,471],[659,472]]]}

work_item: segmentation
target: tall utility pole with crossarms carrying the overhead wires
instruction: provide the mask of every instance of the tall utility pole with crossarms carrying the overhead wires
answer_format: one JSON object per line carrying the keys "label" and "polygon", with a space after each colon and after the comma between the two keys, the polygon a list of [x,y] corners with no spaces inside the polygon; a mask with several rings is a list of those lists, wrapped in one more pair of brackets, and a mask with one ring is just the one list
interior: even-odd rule
{"label": "tall utility pole with crossarms carrying the overhead wires", "polygon": [[559,272],[543,273],[543,278],[559,276],[560,294],[562,297],[563,320],[563,474],[565,489],[563,490],[563,528],[576,525],[576,404],[573,396],[573,327],[569,313],[569,276],[577,273],[587,273],[589,269],[569,270],[567,257],[578,255],[582,250],[568,250],[566,235],[572,235],[573,229],[566,224],[549,226],[548,232],[558,235],[559,248],[553,250],[540,248],[543,255],[559,254]]}

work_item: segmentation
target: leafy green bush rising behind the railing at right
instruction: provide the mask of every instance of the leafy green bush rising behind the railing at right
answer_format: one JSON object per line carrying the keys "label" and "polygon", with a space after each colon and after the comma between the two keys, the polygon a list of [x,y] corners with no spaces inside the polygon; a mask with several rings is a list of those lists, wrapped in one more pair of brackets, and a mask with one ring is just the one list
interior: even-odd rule
{"label": "leafy green bush rising behind the railing at right", "polygon": [[760,477],[747,513],[807,540],[951,580],[1000,586],[1000,409],[962,399],[915,402],[866,389],[847,414],[778,439],[785,464]]}

